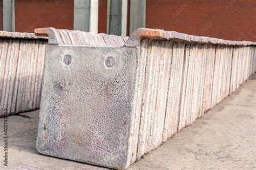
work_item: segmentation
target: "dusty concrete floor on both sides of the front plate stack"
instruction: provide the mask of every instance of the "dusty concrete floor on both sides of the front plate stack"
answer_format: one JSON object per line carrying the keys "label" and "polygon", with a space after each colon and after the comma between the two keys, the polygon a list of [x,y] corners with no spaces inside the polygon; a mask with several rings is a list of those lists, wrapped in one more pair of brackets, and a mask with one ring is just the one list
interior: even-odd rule
{"label": "dusty concrete floor on both sides of the front plate stack", "polygon": [[[256,74],[191,126],[145,155],[129,169],[255,169]],[[0,168],[99,169],[47,157],[35,149],[38,110],[8,117],[8,167],[3,166],[4,119],[0,119]]]}

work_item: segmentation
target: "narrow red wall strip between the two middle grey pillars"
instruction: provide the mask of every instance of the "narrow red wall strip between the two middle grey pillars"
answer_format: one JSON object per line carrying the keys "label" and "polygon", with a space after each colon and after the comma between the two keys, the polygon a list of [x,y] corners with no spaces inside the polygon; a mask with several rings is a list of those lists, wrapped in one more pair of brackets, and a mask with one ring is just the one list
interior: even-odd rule
{"label": "narrow red wall strip between the two middle grey pillars", "polygon": [[98,33],[106,33],[107,29],[107,0],[99,0]]}

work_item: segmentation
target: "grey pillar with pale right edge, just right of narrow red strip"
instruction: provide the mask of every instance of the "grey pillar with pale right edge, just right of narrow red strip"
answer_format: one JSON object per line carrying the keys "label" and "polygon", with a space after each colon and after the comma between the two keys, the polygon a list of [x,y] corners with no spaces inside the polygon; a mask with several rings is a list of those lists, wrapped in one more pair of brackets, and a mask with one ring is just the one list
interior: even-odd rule
{"label": "grey pillar with pale right edge, just right of narrow red strip", "polygon": [[108,33],[126,36],[127,0],[109,0]]}

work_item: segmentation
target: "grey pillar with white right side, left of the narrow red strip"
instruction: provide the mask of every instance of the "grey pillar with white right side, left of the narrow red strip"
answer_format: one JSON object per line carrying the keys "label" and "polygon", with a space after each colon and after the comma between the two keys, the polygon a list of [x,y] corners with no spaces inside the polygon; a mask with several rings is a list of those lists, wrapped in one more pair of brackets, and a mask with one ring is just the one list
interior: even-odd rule
{"label": "grey pillar with white right side, left of the narrow red strip", "polygon": [[98,33],[98,0],[74,0],[74,30]]}

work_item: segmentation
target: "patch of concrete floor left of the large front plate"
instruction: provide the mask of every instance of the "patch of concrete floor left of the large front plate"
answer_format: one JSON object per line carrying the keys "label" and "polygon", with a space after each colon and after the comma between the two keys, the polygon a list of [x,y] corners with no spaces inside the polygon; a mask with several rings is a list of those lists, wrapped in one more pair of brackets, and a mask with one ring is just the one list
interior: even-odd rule
{"label": "patch of concrete floor left of the large front plate", "polygon": [[0,169],[101,169],[102,167],[48,157],[36,151],[39,110],[8,117],[8,167],[4,166],[4,118],[1,122]]}

